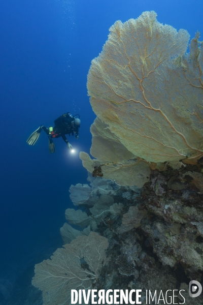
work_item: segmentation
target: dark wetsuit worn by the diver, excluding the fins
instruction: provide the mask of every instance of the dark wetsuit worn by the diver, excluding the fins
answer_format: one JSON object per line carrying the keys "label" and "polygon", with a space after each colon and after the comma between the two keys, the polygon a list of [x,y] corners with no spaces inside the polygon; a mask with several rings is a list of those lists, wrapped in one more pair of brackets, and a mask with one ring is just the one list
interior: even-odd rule
{"label": "dark wetsuit worn by the diver, excluding the fins", "polygon": [[76,126],[74,124],[74,117],[68,112],[66,114],[61,115],[54,121],[54,128],[53,128],[53,134],[50,134],[50,131],[45,126],[42,126],[42,129],[46,132],[47,135],[49,135],[49,138],[59,138],[61,137],[65,143],[69,143],[67,141],[65,135],[74,135],[76,134],[76,137],[79,133],[79,126]]}

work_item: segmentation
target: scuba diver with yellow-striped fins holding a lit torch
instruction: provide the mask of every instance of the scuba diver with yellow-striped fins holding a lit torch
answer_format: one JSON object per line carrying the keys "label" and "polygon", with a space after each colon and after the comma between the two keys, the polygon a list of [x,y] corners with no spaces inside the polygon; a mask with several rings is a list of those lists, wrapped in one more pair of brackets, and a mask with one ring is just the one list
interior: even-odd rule
{"label": "scuba diver with yellow-striped fins holding a lit torch", "polygon": [[[78,116],[78,117],[76,117]],[[61,137],[65,143],[67,144],[67,147],[72,149],[71,143],[66,139],[65,135],[71,135],[74,136],[74,133],[76,134],[76,139],[79,138],[79,128],[80,128],[80,115],[72,115],[70,112],[64,113],[63,115],[59,116],[54,121],[54,127],[46,128],[44,125],[41,125],[36,131],[34,131],[29,138],[27,139],[27,143],[29,145],[35,145],[37,142],[40,133],[42,130],[46,132],[49,138],[49,152],[50,154],[55,153],[55,145],[53,142],[53,138],[59,138]]]}

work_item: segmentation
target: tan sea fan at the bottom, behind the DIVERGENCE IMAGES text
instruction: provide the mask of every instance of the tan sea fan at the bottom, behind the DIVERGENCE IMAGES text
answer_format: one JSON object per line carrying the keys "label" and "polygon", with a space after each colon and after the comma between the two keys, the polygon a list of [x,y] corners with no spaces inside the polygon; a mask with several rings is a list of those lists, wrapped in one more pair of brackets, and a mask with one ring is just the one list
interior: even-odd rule
{"label": "tan sea fan at the bottom, behind the DIVERGENCE IMAGES text", "polygon": [[51,259],[35,265],[32,285],[42,290],[44,305],[70,305],[71,289],[91,289],[92,280],[98,278],[106,259],[108,246],[107,238],[91,232],[88,236],[78,236],[64,249],[57,249]]}

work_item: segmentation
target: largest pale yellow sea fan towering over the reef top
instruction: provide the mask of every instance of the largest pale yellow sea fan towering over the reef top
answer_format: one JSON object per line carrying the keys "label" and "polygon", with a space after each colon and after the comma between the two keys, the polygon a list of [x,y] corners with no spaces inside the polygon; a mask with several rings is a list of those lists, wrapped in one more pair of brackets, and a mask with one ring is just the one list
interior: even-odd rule
{"label": "largest pale yellow sea fan towering over the reef top", "polygon": [[[116,21],[92,60],[87,88],[96,115],[134,156],[149,162],[203,154],[202,43],[155,12]],[[101,154],[102,152],[100,152]]]}

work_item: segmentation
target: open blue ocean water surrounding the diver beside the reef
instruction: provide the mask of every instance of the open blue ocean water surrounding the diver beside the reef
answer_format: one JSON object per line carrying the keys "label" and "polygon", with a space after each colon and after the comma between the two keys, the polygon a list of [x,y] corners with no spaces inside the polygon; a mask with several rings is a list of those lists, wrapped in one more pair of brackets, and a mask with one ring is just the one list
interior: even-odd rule
{"label": "open blue ocean water surrounding the diver beside the reef", "polygon": [[[154,10],[159,22],[187,29],[193,38],[197,30],[203,33],[202,9],[201,0],[1,3],[0,304],[24,304],[23,287],[12,300],[16,281],[62,246],[59,229],[65,209],[72,207],[69,188],[87,178],[79,159],[79,151],[89,153],[95,118],[87,73],[110,26]],[[79,140],[70,138],[75,155],[62,139],[50,155],[45,133],[35,146],[26,144],[40,125],[53,125],[67,111],[79,113],[82,121]],[[26,273],[27,282],[32,276]]]}

